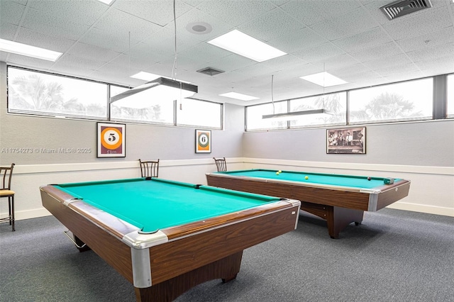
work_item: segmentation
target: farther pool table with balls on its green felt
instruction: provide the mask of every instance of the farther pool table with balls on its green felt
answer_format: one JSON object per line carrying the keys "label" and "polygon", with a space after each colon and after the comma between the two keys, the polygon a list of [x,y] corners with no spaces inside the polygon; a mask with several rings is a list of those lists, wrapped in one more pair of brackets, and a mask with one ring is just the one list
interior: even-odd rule
{"label": "farther pool table with balls on its green felt", "polygon": [[378,211],[408,196],[410,181],[270,169],[206,174],[209,186],[301,201],[301,210],[326,220],[328,234],[338,238],[350,223],[362,223],[364,211]]}

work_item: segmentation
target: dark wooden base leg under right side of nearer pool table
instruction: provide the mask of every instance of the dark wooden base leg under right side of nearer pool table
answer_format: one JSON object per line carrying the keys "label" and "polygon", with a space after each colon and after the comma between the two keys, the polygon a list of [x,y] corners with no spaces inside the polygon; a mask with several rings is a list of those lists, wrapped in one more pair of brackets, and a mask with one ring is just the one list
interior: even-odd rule
{"label": "dark wooden base leg under right side of nearer pool table", "polygon": [[[243,251],[227,256],[194,269],[191,272],[175,276],[145,289],[134,288],[137,301],[165,302],[173,301],[192,287],[213,279],[228,282],[236,278],[240,272]],[[152,274],[153,276],[153,274]]]}

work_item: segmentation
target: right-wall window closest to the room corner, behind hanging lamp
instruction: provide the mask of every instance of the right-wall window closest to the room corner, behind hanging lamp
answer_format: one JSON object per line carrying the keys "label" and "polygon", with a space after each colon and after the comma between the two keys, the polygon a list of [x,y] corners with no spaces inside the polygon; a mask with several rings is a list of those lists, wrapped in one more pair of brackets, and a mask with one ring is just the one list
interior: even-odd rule
{"label": "right-wall window closest to the room corner, behind hanging lamp", "polygon": [[286,129],[287,121],[272,121],[262,118],[267,114],[285,112],[287,112],[287,101],[248,106],[246,107],[246,130]]}

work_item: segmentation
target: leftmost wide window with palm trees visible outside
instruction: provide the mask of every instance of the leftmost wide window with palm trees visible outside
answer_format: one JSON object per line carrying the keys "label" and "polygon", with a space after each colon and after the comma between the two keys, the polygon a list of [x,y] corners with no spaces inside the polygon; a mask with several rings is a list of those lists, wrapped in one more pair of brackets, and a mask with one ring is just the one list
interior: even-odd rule
{"label": "leftmost wide window with palm trees visible outside", "polygon": [[107,117],[107,85],[8,67],[8,111]]}

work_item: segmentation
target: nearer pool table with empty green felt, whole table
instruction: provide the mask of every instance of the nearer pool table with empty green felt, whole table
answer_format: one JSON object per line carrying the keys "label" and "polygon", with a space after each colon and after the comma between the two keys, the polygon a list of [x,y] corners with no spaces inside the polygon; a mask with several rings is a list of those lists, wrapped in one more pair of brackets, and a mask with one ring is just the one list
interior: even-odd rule
{"label": "nearer pool table with empty green felt, whole table", "polygon": [[172,301],[230,281],[243,250],[297,228],[300,202],[165,179],[40,187],[43,206],[133,284],[137,301]]}

